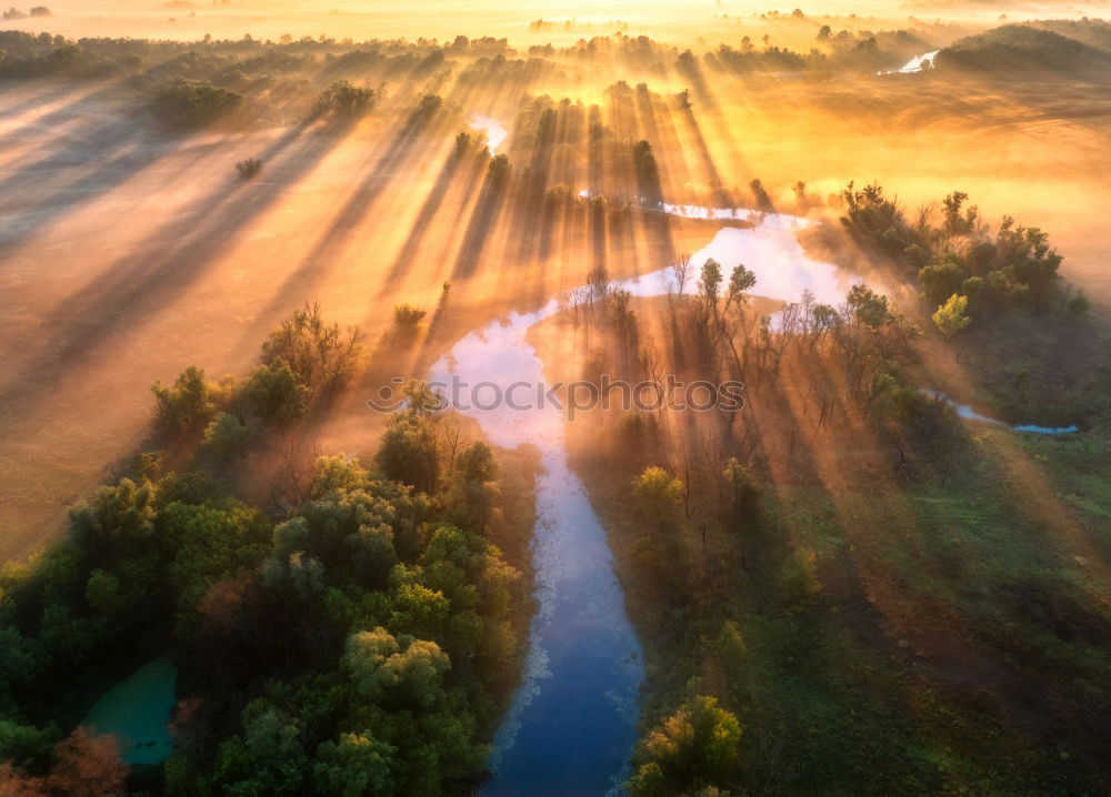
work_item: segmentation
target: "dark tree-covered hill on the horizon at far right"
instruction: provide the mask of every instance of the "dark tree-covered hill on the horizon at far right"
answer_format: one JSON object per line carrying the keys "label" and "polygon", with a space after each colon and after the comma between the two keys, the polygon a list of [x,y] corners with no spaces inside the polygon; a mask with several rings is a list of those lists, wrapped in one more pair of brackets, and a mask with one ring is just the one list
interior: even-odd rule
{"label": "dark tree-covered hill on the horizon at far right", "polygon": [[938,69],[1054,72],[1111,68],[1111,52],[1068,36],[1024,24],[1005,24],[947,47]]}

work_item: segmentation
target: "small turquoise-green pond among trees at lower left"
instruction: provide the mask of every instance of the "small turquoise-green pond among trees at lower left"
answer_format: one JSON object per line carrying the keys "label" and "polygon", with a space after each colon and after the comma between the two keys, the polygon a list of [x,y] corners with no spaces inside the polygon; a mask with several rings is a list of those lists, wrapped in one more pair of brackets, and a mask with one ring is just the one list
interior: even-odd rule
{"label": "small turquoise-green pond among trees at lower left", "polygon": [[172,749],[167,723],[177,679],[173,662],[154,659],[106,692],[81,724],[119,737],[120,756],[127,764],[159,764]]}

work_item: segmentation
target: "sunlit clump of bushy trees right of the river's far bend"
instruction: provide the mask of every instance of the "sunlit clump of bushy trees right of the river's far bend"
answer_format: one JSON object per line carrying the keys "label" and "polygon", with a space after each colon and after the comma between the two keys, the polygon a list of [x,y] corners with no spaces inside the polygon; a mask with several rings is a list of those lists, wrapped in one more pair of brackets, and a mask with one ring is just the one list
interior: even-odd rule
{"label": "sunlit clump of bushy trees right of the river's far bend", "polygon": [[1105,410],[1111,369],[1094,356],[1103,332],[1087,317],[1088,297],[1060,278],[1044,231],[1007,215],[991,224],[959,191],[910,219],[879,185],[850,185],[841,199],[851,238],[918,287],[908,312],[953,342],[958,362],[974,357],[997,416],[1068,426]]}

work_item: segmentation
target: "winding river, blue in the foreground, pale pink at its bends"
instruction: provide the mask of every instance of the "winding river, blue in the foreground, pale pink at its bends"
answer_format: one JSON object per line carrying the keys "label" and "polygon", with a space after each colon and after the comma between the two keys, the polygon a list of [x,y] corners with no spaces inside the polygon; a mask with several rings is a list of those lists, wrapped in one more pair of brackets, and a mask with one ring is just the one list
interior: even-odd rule
{"label": "winding river, blue in the foreground, pale pink at its bends", "polygon": [[[704,209],[703,209],[704,210]],[[749,211],[705,210],[737,219]],[[695,216],[687,205],[670,212]],[[725,226],[692,263],[718,260],[727,271],[743,262],[757,274],[760,294],[794,301],[803,289],[835,302],[851,280],[830,263],[812,260],[794,238],[804,220],[753,215],[751,229]],[[614,287],[639,296],[668,291],[672,268]],[[534,324],[564,306],[569,293],[539,310],[510,313],[469,333],[436,362],[433,384],[467,386],[449,400],[474,417],[490,442],[530,443],[540,451],[533,566],[537,615],[532,621],[524,677],[494,739],[493,778],[484,794],[602,795],[617,790],[637,738],[638,693],[644,678],[640,644],[613,574],[605,532],[587,491],[568,464],[562,411],[536,400],[543,364],[527,339]],[[482,389],[476,385],[482,383]],[[497,402],[512,385],[519,408]],[[530,390],[531,389],[531,392]],[[449,392],[450,393],[450,392]],[[523,401],[532,395],[532,401]],[[466,406],[460,405],[466,397]],[[523,408],[528,405],[530,408]]]}

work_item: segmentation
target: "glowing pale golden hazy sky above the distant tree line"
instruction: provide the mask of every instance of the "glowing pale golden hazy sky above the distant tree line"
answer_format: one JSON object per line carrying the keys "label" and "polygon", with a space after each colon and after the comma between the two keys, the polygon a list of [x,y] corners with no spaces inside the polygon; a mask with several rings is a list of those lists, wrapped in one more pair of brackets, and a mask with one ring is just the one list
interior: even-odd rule
{"label": "glowing pale golden hazy sky above the distant tree line", "polygon": [[[28,8],[43,0],[24,0]],[[703,37],[708,41],[729,39],[735,28],[723,20],[724,14],[757,22],[759,13],[778,10],[790,13],[794,4],[760,2],[759,0],[638,0],[637,2],[528,2],[520,0],[439,0],[414,3],[410,0],[44,0],[53,11],[51,19],[7,20],[4,28],[49,30],[70,37],[133,36],[192,39],[210,33],[218,38],[240,38],[250,33],[259,38],[327,34],[337,39],[507,37],[514,43],[527,43],[529,22],[536,19],[573,19],[575,28],[565,31],[558,26],[542,34],[544,40],[578,39],[612,33],[617,21],[629,26],[630,33],[645,33],[672,41]],[[9,3],[4,3],[6,6]],[[19,7],[17,6],[18,8]],[[939,7],[911,6],[898,0],[829,0],[800,2],[810,17],[858,13],[877,16],[884,27],[904,24],[914,13],[923,21],[939,16]],[[1015,8],[1024,11],[1018,12]],[[1052,16],[1062,16],[1061,6]],[[1075,9],[1070,4],[1069,8]],[[22,9],[27,10],[27,9]],[[947,4],[948,18],[979,16],[984,21],[998,19],[1007,10],[1012,19],[1019,16],[1045,16],[1030,4],[1008,3]],[[1073,12],[1068,16],[1079,16]]]}

